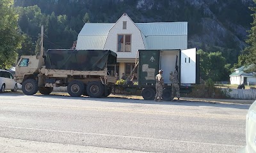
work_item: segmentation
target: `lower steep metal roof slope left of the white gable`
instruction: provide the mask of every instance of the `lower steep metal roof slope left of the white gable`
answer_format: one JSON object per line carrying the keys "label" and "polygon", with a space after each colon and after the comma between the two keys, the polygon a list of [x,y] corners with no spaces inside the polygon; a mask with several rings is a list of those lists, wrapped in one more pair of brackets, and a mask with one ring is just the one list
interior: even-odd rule
{"label": "lower steep metal roof slope left of the white gable", "polygon": [[102,50],[107,36],[78,36],[77,50]]}

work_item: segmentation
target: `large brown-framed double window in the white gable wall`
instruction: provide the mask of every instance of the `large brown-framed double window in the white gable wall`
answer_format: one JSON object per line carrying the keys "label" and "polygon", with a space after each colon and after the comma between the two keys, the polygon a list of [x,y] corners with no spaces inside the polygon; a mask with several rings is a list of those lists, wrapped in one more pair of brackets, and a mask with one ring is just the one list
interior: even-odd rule
{"label": "large brown-framed double window in the white gable wall", "polygon": [[118,52],[131,52],[131,34],[118,34]]}

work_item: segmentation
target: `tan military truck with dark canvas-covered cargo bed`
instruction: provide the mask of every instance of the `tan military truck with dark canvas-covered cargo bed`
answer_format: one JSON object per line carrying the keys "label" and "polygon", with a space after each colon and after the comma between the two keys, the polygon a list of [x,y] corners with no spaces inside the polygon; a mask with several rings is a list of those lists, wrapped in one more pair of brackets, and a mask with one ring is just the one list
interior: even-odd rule
{"label": "tan military truck with dark canvas-covered cargo bed", "polygon": [[111,50],[48,50],[45,55],[22,55],[15,80],[24,94],[50,94],[53,87],[67,86],[70,96],[108,96],[116,83],[108,65],[116,64]]}

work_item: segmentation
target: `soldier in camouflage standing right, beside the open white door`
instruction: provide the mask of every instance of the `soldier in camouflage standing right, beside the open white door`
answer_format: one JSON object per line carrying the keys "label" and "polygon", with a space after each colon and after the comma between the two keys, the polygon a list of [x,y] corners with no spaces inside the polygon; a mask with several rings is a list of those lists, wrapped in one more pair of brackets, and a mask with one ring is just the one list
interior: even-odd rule
{"label": "soldier in camouflage standing right, beside the open white door", "polygon": [[178,73],[175,70],[174,73],[170,73],[170,81],[172,82],[172,101],[175,97],[175,94],[178,98],[178,101],[180,100],[180,87],[179,87],[179,80],[178,80]]}

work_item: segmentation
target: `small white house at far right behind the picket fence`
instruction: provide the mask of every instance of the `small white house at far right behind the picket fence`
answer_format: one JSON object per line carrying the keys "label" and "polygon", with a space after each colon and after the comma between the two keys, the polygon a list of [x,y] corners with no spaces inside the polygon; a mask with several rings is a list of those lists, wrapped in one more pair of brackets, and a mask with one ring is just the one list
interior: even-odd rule
{"label": "small white house at far right behind the picket fence", "polygon": [[246,69],[244,66],[241,68],[235,69],[234,73],[229,75],[230,77],[230,84],[249,84],[255,85],[256,84],[256,77],[255,73],[246,73],[243,70]]}

